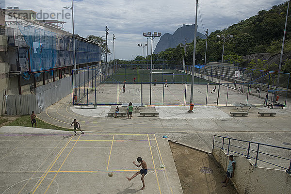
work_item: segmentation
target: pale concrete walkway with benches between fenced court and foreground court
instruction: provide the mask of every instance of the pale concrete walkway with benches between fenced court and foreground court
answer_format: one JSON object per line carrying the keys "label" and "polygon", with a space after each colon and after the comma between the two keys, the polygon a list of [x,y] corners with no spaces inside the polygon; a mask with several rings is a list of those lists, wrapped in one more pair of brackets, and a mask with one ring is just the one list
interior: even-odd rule
{"label": "pale concrete walkway with benches between fenced court and foreground court", "polygon": [[[241,111],[233,106],[194,107],[194,110],[201,112],[197,112],[197,116],[195,116],[195,114],[184,116],[187,115],[186,111],[188,110],[188,106],[164,106],[163,108],[159,106],[146,106],[134,107],[132,119],[127,119],[125,116],[118,118],[107,116],[106,111],[110,108],[108,106],[97,107],[96,110],[106,109],[106,111],[103,110],[103,114],[100,117],[97,117],[96,115],[98,115],[98,113],[95,113],[92,109],[81,109],[79,107],[78,113],[78,108],[74,107],[73,112],[73,109],[70,109],[71,100],[71,95],[68,95],[59,102],[51,105],[46,112],[40,113],[37,116],[48,123],[65,128],[68,128],[73,119],[76,118],[81,123],[81,127],[84,130],[103,133],[156,133],[159,136],[166,135],[172,140],[207,152],[210,152],[212,149],[213,135],[291,148],[291,146],[283,144],[291,143],[290,99],[287,100],[287,107],[284,109],[253,107],[249,110],[249,115],[246,117],[229,116],[230,111]],[[113,111],[114,108],[115,106],[111,106],[110,110]],[[210,109],[210,111],[207,112],[207,109]],[[86,110],[88,114],[86,114]],[[157,110],[159,110],[161,115],[156,117],[143,117],[139,115],[142,111]],[[182,117],[180,117],[180,113],[178,113],[181,110],[184,111]],[[126,107],[120,107],[120,111],[126,111]],[[215,114],[211,114],[212,111],[214,111]],[[276,112],[277,115],[273,117],[261,117],[258,115],[258,111],[272,111]],[[245,147],[245,145],[242,144],[238,145]],[[287,158],[291,158],[289,151],[265,147],[261,149],[271,154],[279,153]],[[254,148],[254,150],[256,149]],[[251,154],[254,155],[252,152]],[[260,155],[259,158],[265,159],[266,156]],[[269,158],[269,160],[269,162],[278,162],[278,160],[274,158]],[[288,163],[288,161],[283,160],[279,162],[286,168],[289,167],[290,162]],[[259,166],[276,168],[264,162],[259,162]]]}

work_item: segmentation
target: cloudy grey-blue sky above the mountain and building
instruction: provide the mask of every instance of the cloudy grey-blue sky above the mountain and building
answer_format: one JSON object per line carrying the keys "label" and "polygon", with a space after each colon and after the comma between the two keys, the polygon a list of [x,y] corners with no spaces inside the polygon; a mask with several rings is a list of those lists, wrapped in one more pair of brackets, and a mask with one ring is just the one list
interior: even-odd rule
{"label": "cloudy grey-blue sky above the mountain and building", "polygon": [[[225,29],[255,16],[260,10],[269,10],[285,1],[199,0],[198,32],[204,33],[207,28],[209,32]],[[71,10],[63,8],[70,7],[71,0],[0,0],[0,3],[1,8],[17,6],[19,9],[31,9],[41,13],[38,17],[61,13],[58,19],[66,22],[66,31],[72,32]],[[142,48],[138,47],[138,43],[146,44],[143,32],[173,34],[183,24],[194,24],[195,4],[196,0],[74,0],[75,33],[82,37],[105,36],[107,25],[109,49],[113,50],[113,34],[116,38],[115,59],[131,60],[142,56]],[[158,41],[159,38],[153,40],[153,50]],[[148,39],[149,55],[150,42]],[[146,48],[144,52],[146,53]],[[113,60],[113,51],[108,56],[108,60],[110,59]]]}

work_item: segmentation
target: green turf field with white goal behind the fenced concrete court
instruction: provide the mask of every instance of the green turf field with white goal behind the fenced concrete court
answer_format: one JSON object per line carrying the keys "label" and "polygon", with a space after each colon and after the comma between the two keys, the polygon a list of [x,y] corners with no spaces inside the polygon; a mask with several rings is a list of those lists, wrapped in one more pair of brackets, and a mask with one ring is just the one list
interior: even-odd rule
{"label": "green turf field with white goal behind the fenced concrete court", "polygon": [[[157,78],[157,82],[163,82],[165,79],[167,79],[168,83],[184,83],[184,82],[191,82],[192,75],[188,73],[183,73],[181,71],[175,70],[175,69],[153,69],[152,72],[164,72],[164,74],[155,74],[153,73],[152,81]],[[174,79],[173,74],[168,74],[166,72],[174,73]],[[111,77],[114,80],[117,81],[127,81],[132,82],[133,78],[136,77],[136,82],[149,82],[149,74],[150,69],[144,69],[144,79],[143,79],[143,70],[142,69],[118,69]],[[183,78],[183,79],[182,79]],[[105,82],[112,82],[113,79],[108,78]],[[114,81],[113,81],[114,82]],[[212,83],[211,81],[194,77],[194,83]]]}

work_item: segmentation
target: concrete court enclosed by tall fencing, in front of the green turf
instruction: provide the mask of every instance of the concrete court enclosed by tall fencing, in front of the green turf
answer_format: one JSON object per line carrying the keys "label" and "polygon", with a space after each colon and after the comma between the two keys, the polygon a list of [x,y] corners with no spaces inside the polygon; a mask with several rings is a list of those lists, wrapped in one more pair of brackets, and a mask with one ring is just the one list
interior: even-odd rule
{"label": "concrete court enclosed by tall fencing, in front of the green turf", "polygon": [[[186,99],[185,99],[185,85],[181,84],[168,84],[168,87],[163,87],[163,84],[152,84],[152,98],[151,104],[153,105],[184,105],[190,104],[190,93],[191,93],[191,85],[186,85]],[[216,93],[211,93],[213,87],[216,86]],[[233,104],[233,103],[248,103],[251,104],[263,104],[264,99],[253,96],[246,95],[247,86],[244,88],[244,93],[238,94],[238,90],[234,90],[233,84],[230,87],[226,87],[226,85],[221,85],[220,87],[220,95],[219,95],[219,105]],[[238,86],[236,86],[237,88]],[[255,91],[252,88],[252,91]],[[84,89],[79,90],[81,94],[84,93]],[[86,91],[86,90],[85,90]],[[254,93],[254,91],[252,93]],[[207,94],[207,95],[206,95]],[[228,94],[228,97],[227,97]],[[142,103],[149,104],[149,95],[150,95],[150,84],[126,84],[126,92],[122,92],[122,84],[119,84],[117,90],[117,84],[100,84],[98,86],[98,90],[96,93],[97,104],[117,104],[119,103],[140,103],[142,96]],[[256,94],[258,95],[258,94]],[[266,93],[264,91],[261,92],[261,97],[265,97]],[[205,105],[206,97],[208,105],[216,105],[218,96],[218,85],[202,85],[195,84],[194,85],[194,104]],[[271,96],[270,96],[271,97]],[[117,100],[118,99],[118,100]],[[186,100],[186,101],[185,101]],[[269,99],[270,100],[270,99]],[[289,99],[290,100],[290,99]],[[88,102],[91,104],[95,104],[95,94],[90,93],[88,95]],[[278,102],[284,104],[285,97],[280,97]],[[87,97],[83,97],[79,104],[87,103]]]}

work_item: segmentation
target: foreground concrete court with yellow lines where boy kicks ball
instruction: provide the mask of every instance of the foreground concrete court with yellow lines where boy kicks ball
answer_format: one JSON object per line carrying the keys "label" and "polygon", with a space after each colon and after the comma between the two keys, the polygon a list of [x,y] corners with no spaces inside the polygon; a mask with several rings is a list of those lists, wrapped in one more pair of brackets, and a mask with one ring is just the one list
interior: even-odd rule
{"label": "foreground concrete court with yellow lines where boy kicks ball", "polygon": [[[1,194],[183,193],[169,144],[155,134],[0,133],[0,147]],[[140,175],[126,178],[141,168],[138,156],[143,191]]]}

